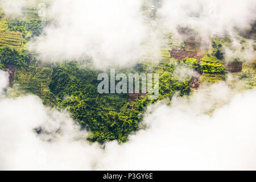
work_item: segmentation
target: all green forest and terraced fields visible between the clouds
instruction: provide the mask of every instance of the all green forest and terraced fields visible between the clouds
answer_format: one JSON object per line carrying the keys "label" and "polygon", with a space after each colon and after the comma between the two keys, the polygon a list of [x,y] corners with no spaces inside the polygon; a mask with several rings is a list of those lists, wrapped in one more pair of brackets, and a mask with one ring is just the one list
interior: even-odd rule
{"label": "all green forest and terraced fields visible between the clouds", "polygon": [[[93,67],[82,68],[76,61],[46,64],[36,60],[36,56],[27,51],[26,43],[33,36],[42,34],[43,27],[49,22],[40,19],[36,9],[24,11],[29,14],[25,19],[13,19],[0,11],[0,69],[5,70],[7,64],[15,66],[14,82],[18,85],[18,95],[32,93],[49,107],[68,110],[82,129],[90,131],[88,140],[92,142],[126,142],[129,134],[143,128],[143,112],[157,100],[148,100],[147,94],[127,102],[129,94],[99,94],[97,76],[101,71]],[[150,12],[150,17],[154,16],[154,12]],[[203,74],[202,83],[212,84],[226,79],[223,47],[230,46],[228,37],[213,38],[211,49],[201,61],[171,59],[170,51],[175,43],[171,34],[166,35],[166,39],[168,46],[162,49],[159,63],[143,60],[133,68],[119,69],[117,73],[158,73],[158,100],[171,99],[175,93],[182,97],[191,92],[192,76],[181,79],[176,74],[179,68]],[[185,42],[179,44],[185,46]],[[254,88],[255,66],[244,64],[243,67],[237,76],[245,80],[246,89]]]}

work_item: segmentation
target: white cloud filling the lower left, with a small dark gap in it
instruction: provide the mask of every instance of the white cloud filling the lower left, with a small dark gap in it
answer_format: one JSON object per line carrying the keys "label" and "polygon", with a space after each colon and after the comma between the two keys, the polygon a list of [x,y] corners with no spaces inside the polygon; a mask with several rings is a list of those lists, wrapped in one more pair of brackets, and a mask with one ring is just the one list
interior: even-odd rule
{"label": "white cloud filling the lower left, with a small dark gap in it", "polygon": [[[0,85],[6,80],[0,72]],[[48,109],[36,96],[0,97],[1,170],[94,169],[101,150],[85,142],[86,135],[67,113]]]}

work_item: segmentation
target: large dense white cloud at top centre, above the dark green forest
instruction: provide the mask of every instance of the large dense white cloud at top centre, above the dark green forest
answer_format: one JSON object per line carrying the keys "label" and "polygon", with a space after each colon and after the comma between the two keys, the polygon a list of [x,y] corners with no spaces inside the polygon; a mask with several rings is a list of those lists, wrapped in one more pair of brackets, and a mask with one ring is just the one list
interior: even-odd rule
{"label": "large dense white cloud at top centre, above the dark green forest", "polygon": [[157,42],[143,22],[141,1],[55,0],[48,12],[57,26],[33,44],[43,60],[92,57],[98,68],[127,66]]}

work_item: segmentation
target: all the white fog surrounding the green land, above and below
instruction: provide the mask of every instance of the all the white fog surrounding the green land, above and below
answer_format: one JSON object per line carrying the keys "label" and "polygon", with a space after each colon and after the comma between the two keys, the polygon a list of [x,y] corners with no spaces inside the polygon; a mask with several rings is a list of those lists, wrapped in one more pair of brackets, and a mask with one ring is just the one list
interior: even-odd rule
{"label": "all the white fog surrounding the green land, above and below", "polygon": [[[20,16],[31,2],[0,4],[6,14]],[[155,19],[143,15],[142,3],[52,1],[46,13],[52,23],[30,48],[42,61],[92,58],[99,69],[126,68],[148,55],[159,61],[163,32],[183,39],[177,33],[177,26],[183,26],[208,42],[213,35],[228,34],[234,49],[225,47],[225,59],[255,62],[254,40],[246,40],[247,48],[241,51],[234,30],[255,21],[255,1],[165,0]],[[181,80],[198,76],[183,67],[174,75]],[[256,169],[256,89],[240,93],[220,82],[189,97],[158,101],[143,115],[146,129],[127,143],[102,146],[87,142],[88,133],[67,111],[50,109],[32,95],[9,97],[8,83],[8,74],[0,71],[2,170]]]}

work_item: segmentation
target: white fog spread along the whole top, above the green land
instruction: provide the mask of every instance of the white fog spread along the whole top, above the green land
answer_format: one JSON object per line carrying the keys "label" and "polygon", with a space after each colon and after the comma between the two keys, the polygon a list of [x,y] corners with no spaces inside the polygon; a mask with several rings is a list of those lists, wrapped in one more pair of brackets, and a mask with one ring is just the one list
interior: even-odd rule
{"label": "white fog spread along the whole top, above the green land", "polygon": [[[83,60],[92,58],[98,69],[130,67],[146,56],[160,60],[164,46],[163,33],[172,32],[175,39],[184,40],[177,27],[192,28],[205,43],[213,35],[229,35],[235,40],[237,30],[255,22],[256,3],[253,0],[184,0],[159,1],[155,18],[142,10],[143,3],[154,1],[46,1],[46,17],[52,23],[44,33],[30,42],[30,48],[44,61]],[[21,15],[22,7],[39,1],[5,1],[0,4],[7,14]],[[243,55],[255,56],[248,47]],[[228,51],[227,58],[234,55]],[[245,57],[245,56],[244,56]],[[251,56],[250,56],[251,58]],[[251,59],[249,60],[251,63]]]}

